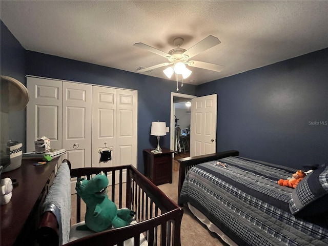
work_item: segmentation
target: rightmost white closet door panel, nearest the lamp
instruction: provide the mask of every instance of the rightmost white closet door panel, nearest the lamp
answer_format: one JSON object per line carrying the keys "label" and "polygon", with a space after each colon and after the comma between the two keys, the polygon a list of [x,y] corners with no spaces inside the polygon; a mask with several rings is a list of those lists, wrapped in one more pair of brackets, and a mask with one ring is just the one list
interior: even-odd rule
{"label": "rightmost white closet door panel, nearest the lamp", "polygon": [[115,166],[137,167],[138,92],[117,89]]}

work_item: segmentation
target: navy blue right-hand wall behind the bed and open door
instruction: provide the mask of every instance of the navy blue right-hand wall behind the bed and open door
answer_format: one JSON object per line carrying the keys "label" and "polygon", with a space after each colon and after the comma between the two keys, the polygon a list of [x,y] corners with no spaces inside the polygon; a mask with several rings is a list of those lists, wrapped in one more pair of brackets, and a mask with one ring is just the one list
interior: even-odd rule
{"label": "navy blue right-hand wall behind the bed and open door", "polygon": [[328,163],[328,49],[212,81],[217,151],[301,168]]}

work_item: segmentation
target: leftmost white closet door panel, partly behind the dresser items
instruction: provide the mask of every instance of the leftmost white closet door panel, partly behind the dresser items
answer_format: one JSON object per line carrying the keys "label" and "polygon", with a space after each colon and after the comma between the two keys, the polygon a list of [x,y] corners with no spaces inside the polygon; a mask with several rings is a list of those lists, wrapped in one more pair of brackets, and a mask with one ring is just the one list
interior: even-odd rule
{"label": "leftmost white closet door panel, partly behind the dresser items", "polygon": [[26,111],[26,150],[34,151],[37,137],[50,138],[51,148],[61,148],[62,81],[27,77],[30,100]]}

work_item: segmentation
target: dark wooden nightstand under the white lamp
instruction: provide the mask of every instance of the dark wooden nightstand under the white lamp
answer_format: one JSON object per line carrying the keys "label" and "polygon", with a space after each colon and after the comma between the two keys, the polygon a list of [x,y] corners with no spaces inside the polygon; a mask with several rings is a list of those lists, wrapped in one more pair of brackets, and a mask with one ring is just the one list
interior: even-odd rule
{"label": "dark wooden nightstand under the white lamp", "polygon": [[172,153],[173,150],[162,148],[162,153],[154,154],[154,149],[144,150],[145,176],[148,177],[154,185],[162,183],[172,183]]}

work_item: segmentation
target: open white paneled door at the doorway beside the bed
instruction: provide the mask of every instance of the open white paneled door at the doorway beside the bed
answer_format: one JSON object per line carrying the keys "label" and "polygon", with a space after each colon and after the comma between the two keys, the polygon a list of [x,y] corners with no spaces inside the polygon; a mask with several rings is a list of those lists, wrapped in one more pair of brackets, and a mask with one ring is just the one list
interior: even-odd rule
{"label": "open white paneled door at the doorway beside the bed", "polygon": [[216,152],[217,94],[191,100],[190,156]]}

